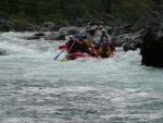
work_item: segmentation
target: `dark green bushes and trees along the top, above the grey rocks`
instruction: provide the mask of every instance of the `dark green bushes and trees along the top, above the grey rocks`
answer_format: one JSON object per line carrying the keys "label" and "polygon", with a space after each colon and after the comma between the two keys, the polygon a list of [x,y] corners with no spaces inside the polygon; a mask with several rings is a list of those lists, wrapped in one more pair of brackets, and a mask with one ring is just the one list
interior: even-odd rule
{"label": "dark green bushes and trees along the top, above the grey rocks", "polygon": [[96,20],[93,12],[134,23],[151,9],[151,0],[1,0],[0,10],[18,22],[61,22],[76,17]]}

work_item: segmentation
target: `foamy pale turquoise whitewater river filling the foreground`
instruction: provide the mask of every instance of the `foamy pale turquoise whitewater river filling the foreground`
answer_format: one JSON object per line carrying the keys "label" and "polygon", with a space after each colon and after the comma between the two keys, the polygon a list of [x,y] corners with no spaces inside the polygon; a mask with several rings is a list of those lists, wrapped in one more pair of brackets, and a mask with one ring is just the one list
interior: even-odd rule
{"label": "foamy pale turquoise whitewater river filling the foreground", "polygon": [[66,41],[33,34],[0,34],[0,123],[163,122],[163,70],[142,66],[139,50],[62,63]]}

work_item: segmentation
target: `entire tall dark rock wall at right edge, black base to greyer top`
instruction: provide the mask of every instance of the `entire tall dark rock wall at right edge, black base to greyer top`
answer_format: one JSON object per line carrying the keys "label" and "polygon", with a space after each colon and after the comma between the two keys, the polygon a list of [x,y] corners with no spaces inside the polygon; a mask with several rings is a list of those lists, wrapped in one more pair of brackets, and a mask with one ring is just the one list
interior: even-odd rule
{"label": "entire tall dark rock wall at right edge, black base to greyer top", "polygon": [[152,14],[152,21],[147,21],[148,29],[140,49],[142,64],[163,67],[163,4],[156,4]]}

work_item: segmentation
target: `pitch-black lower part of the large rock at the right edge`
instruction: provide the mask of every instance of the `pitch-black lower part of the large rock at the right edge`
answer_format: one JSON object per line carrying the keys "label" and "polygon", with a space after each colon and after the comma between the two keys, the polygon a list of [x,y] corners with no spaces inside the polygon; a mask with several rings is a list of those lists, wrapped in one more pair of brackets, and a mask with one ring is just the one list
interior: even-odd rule
{"label": "pitch-black lower part of the large rock at the right edge", "polygon": [[163,36],[158,37],[152,27],[150,27],[143,37],[140,53],[142,56],[142,64],[163,67]]}

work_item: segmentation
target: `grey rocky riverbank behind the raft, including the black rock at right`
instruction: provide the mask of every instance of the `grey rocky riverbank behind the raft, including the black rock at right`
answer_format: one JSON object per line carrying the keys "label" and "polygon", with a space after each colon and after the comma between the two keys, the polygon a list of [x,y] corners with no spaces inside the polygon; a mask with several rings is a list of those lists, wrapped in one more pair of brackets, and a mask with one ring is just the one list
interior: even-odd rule
{"label": "grey rocky riverbank behind the raft, including the black rock at right", "polygon": [[[65,36],[84,34],[87,38],[96,40],[102,29],[112,36],[116,47],[124,51],[140,48],[142,64],[148,66],[163,66],[161,53],[163,52],[163,4],[155,4],[154,9],[135,24],[122,24],[112,15],[92,12],[97,20],[89,23],[84,19],[63,21],[61,23],[45,22],[39,26],[26,24],[17,27],[5,13],[0,12],[0,27],[2,32],[9,30],[48,30],[52,33],[36,33],[27,39],[45,38],[46,40],[64,40]],[[24,28],[24,29],[23,29]],[[150,28],[150,29],[149,29]],[[152,52],[152,53],[151,53]],[[4,53],[1,53],[4,54]]]}

